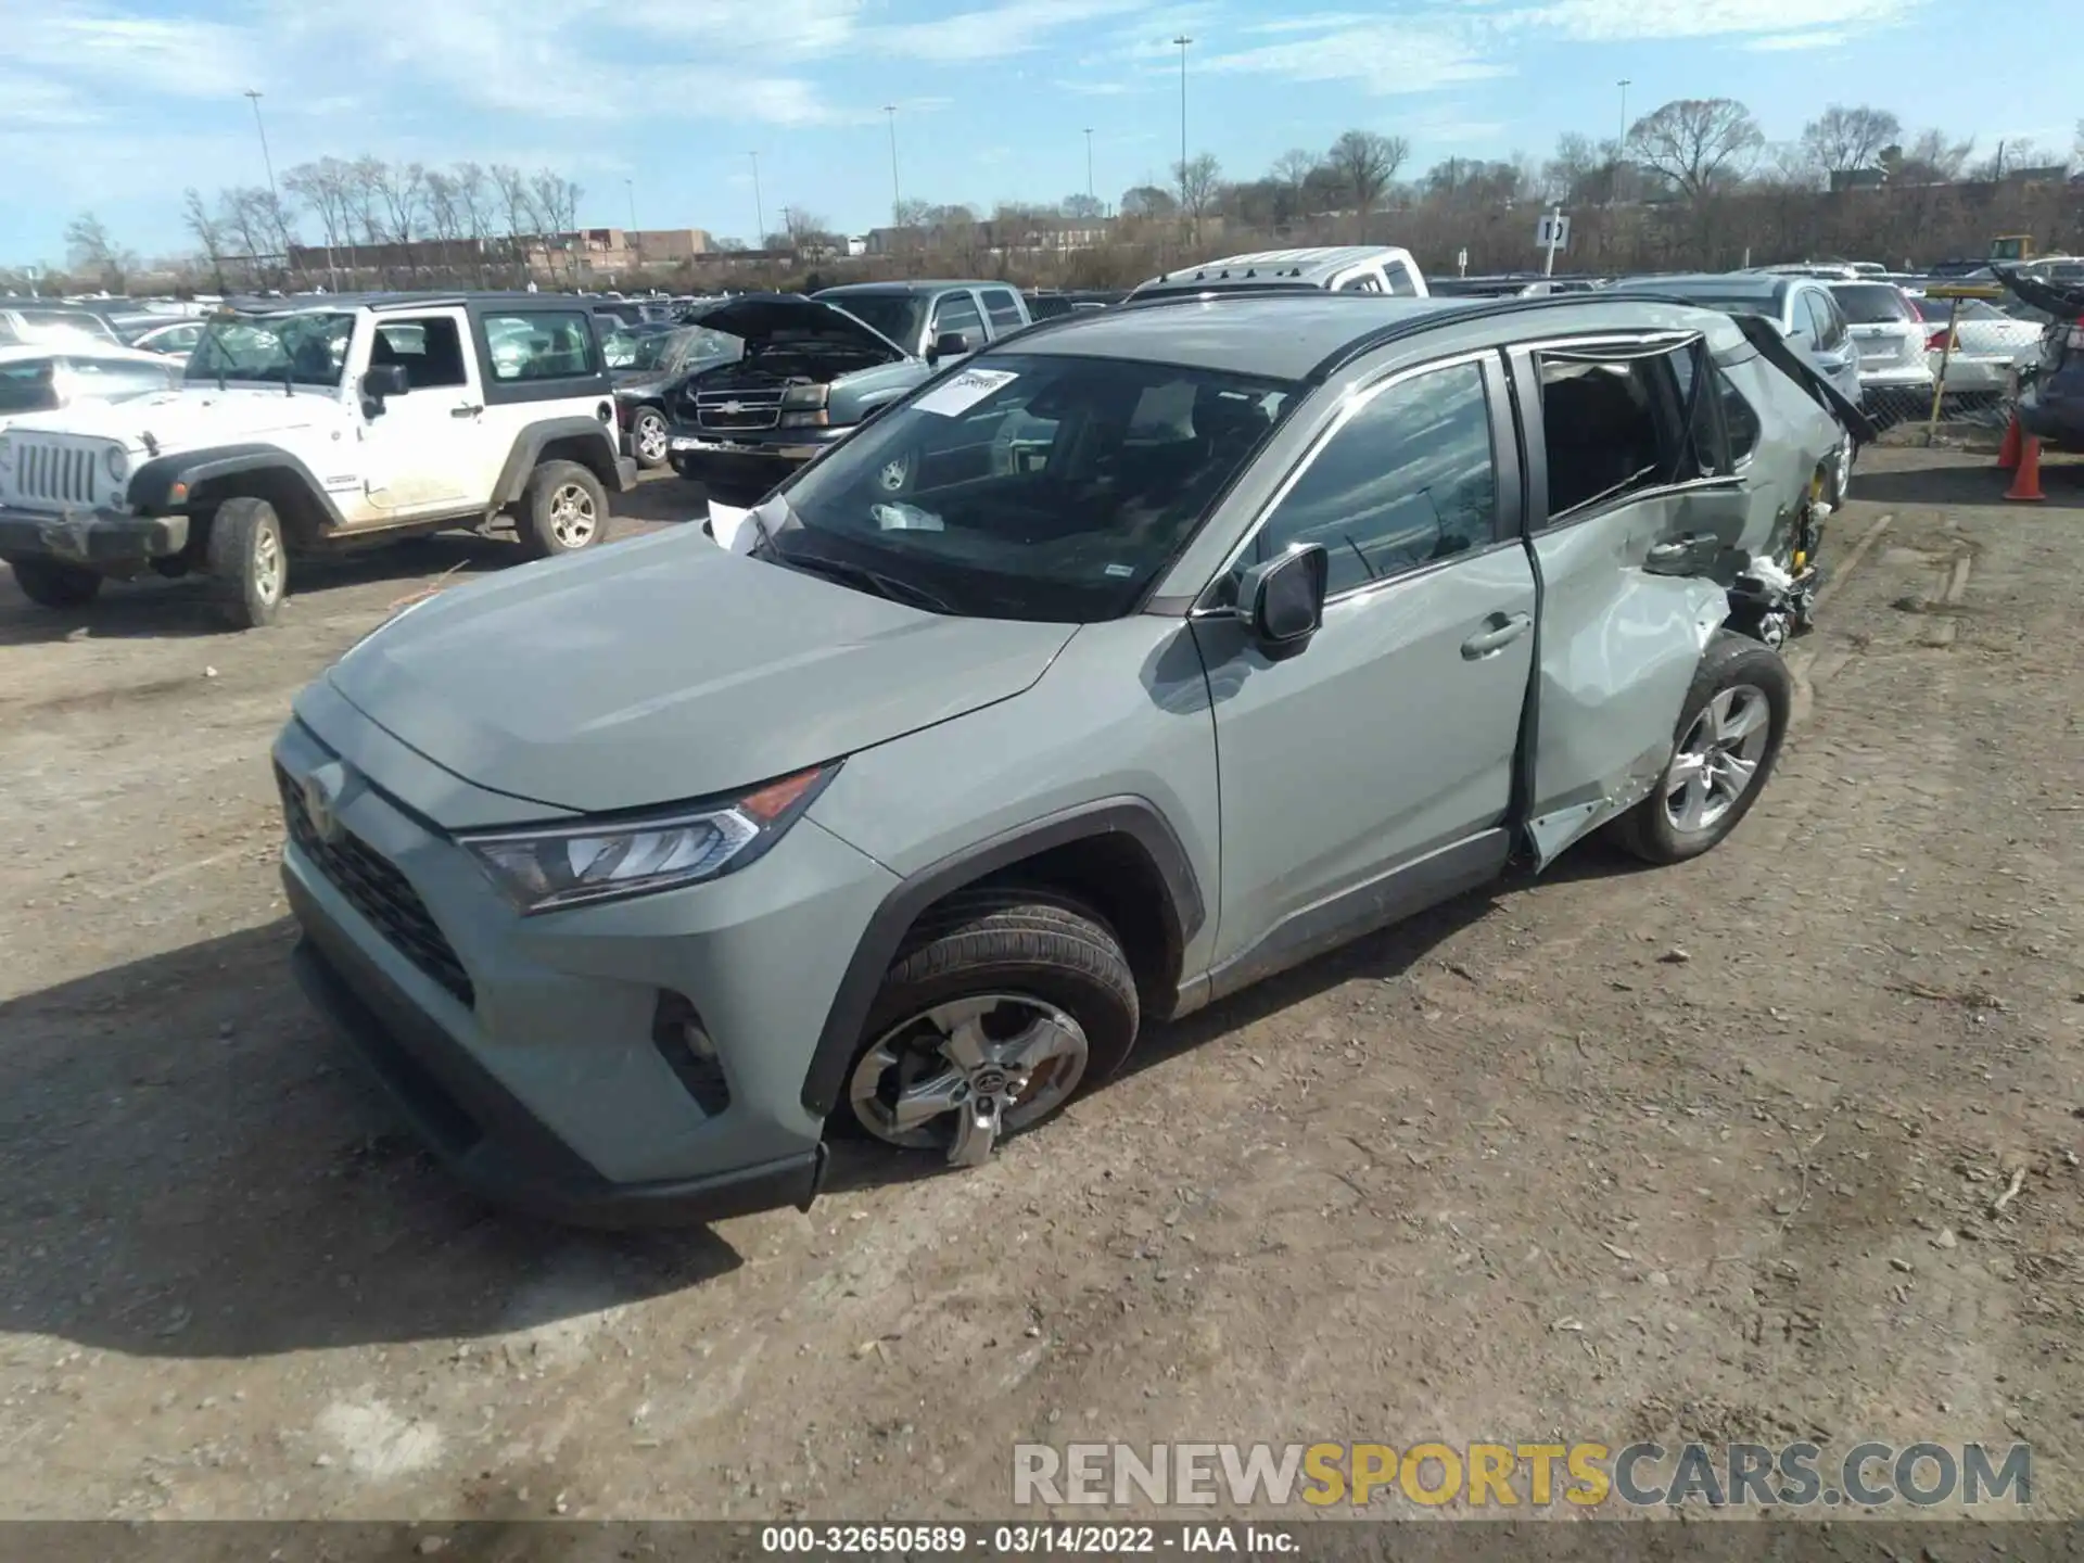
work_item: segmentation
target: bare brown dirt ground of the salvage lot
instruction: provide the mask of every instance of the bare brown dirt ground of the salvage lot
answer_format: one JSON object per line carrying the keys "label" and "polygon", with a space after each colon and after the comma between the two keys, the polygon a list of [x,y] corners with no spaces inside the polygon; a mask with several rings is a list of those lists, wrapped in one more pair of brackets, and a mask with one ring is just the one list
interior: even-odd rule
{"label": "bare brown dirt ground of the salvage lot", "polygon": [[1715,854],[1365,940],[979,1171],[863,1146],[809,1217],[642,1236],[461,1194],[283,965],[292,692],[511,550],[306,573],[246,636],[0,581],[0,1515],[932,1519],[1004,1515],[1027,1438],[1550,1436],[2024,1438],[2084,1513],[2084,469],[2046,483],[1874,452]]}

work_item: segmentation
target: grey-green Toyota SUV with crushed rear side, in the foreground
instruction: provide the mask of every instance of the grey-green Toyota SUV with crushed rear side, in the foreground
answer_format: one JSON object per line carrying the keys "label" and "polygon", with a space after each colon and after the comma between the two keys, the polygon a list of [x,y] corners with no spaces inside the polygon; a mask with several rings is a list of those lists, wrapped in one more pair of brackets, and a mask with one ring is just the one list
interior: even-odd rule
{"label": "grey-green Toyota SUV with crushed rear side, in the foreground", "polygon": [[706,1219],[809,1205],[840,1125],[977,1163],[1152,1023],[1594,829],[1705,852],[1863,427],[1746,329],[1311,292],[1023,331],[727,546],[442,592],[304,690],[298,975],[496,1198]]}

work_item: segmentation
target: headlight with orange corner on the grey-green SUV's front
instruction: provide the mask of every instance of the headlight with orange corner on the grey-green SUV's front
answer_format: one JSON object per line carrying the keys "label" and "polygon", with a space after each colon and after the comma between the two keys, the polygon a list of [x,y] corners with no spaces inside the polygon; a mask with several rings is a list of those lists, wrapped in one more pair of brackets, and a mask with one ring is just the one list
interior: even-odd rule
{"label": "headlight with orange corner on the grey-green SUV's front", "polygon": [[650,819],[465,836],[483,871],[523,915],[619,900],[715,879],[775,844],[838,773],[796,771],[715,804]]}

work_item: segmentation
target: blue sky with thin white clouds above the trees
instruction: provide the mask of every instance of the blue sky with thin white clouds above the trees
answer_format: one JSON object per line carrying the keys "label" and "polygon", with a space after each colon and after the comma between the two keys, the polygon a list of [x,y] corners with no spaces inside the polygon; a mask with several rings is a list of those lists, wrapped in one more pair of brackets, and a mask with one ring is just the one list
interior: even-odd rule
{"label": "blue sky with thin white clouds above the trees", "polygon": [[[1338,8],[1328,8],[1338,6]],[[796,204],[859,231],[907,196],[1102,200],[1188,140],[1255,175],[1342,129],[1438,158],[1546,156],[1667,98],[1732,96],[1773,140],[1826,102],[1907,129],[2069,150],[2084,6],[2042,0],[2032,46],[1980,46],[1930,0],[0,0],[0,265],[63,258],[96,210],[146,252],[185,246],[183,185],[260,183],[323,154],[556,167],[584,223],[750,238]],[[1942,25],[1944,21],[1944,25]],[[1996,40],[1992,40],[1994,44]],[[1963,63],[1963,52],[1967,60]],[[1930,108],[1928,108],[1930,104]],[[625,185],[625,181],[629,181]]]}

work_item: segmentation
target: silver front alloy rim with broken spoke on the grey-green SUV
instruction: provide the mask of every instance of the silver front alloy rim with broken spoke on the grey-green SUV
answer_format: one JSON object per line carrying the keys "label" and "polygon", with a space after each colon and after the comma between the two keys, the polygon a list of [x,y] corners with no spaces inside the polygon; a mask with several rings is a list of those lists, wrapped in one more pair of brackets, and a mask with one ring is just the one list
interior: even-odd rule
{"label": "silver front alloy rim with broken spoke on the grey-green SUV", "polygon": [[861,1055],[854,1117],[877,1140],[975,1167],[1002,1134],[1055,1113],[1086,1075],[1086,1032],[1027,994],[977,994],[913,1015]]}

